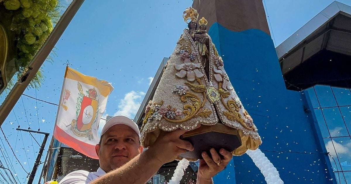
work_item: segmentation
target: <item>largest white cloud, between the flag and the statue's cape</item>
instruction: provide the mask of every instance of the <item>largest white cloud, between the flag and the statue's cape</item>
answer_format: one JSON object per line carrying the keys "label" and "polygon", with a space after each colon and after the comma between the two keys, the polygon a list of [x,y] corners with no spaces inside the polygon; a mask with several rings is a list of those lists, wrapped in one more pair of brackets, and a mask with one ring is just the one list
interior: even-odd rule
{"label": "largest white cloud, between the flag and the statue's cape", "polygon": [[140,103],[145,96],[144,92],[130,91],[124,95],[124,98],[119,102],[119,110],[113,116],[123,115],[129,118],[134,118],[137,113]]}

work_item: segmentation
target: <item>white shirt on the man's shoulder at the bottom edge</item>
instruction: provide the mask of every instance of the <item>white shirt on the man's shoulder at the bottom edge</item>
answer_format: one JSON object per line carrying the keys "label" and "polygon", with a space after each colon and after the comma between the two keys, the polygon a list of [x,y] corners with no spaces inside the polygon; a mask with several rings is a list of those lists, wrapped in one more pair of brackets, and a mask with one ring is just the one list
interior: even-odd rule
{"label": "white shirt on the man's shoulder at the bottom edge", "polygon": [[59,184],[88,184],[105,174],[106,172],[101,168],[96,172],[88,172],[84,170],[73,171],[66,175]]}

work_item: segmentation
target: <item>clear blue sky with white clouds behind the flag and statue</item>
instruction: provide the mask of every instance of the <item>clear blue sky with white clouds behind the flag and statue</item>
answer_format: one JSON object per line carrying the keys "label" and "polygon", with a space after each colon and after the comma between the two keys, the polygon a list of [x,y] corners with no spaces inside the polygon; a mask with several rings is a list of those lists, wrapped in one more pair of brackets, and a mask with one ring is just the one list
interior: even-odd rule
{"label": "clear blue sky with white clouds behind the flag and statue", "polygon": [[[67,0],[61,1],[67,5]],[[332,2],[265,0],[275,45]],[[339,2],[351,5],[349,0]],[[186,27],[182,13],[191,4],[191,0],[85,1],[56,44],[54,63],[44,66],[44,84],[39,90],[27,89],[25,94],[57,104],[65,71],[62,64],[69,60],[73,69],[112,83],[114,90],[108,98],[105,115],[122,114],[133,118],[160,62],[172,53],[182,29]],[[4,95],[0,102],[3,100]],[[27,172],[32,170],[39,145],[28,133],[15,129],[20,125],[24,129],[40,128],[52,134],[56,112],[55,105],[22,96],[2,125]],[[43,137],[34,137],[41,143]],[[4,136],[0,134],[0,138],[3,141],[1,149],[8,152],[13,164],[13,169],[10,169],[24,183],[25,171],[13,158]],[[0,161],[5,162],[1,155]],[[39,173],[35,181],[38,181],[38,176]]]}

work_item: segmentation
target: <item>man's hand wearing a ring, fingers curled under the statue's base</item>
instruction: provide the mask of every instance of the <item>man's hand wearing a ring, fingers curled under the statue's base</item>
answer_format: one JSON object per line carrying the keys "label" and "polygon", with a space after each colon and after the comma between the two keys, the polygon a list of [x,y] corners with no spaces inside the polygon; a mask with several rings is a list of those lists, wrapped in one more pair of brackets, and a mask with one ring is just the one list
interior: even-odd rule
{"label": "man's hand wearing a ring, fingers curled under the statue's base", "polygon": [[204,159],[200,159],[199,163],[197,176],[198,184],[212,183],[212,177],[222,171],[233,157],[231,152],[225,149],[219,150],[219,153],[223,155],[224,159],[221,159],[217,151],[213,148],[210,149],[210,152],[212,158],[208,156],[206,152],[202,153]]}

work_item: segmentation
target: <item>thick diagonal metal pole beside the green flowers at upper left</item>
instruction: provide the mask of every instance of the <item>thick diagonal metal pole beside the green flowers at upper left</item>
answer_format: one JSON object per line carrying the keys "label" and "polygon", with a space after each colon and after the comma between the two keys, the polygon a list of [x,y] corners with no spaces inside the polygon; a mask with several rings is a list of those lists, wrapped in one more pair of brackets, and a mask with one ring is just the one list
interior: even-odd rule
{"label": "thick diagonal metal pole beside the green flowers at upper left", "polygon": [[33,79],[41,65],[54,48],[57,41],[60,39],[62,33],[67,28],[69,22],[73,19],[84,0],[74,0],[67,8],[66,12],[62,15],[61,19],[46,39],[44,45],[40,48],[38,53],[34,56],[31,63],[28,64],[26,72],[20,77],[20,81],[16,82],[10,93],[5,98],[5,101],[0,106],[0,126],[4,123],[8,114],[15,106],[18,99],[21,97],[24,90],[27,88],[29,82]]}

